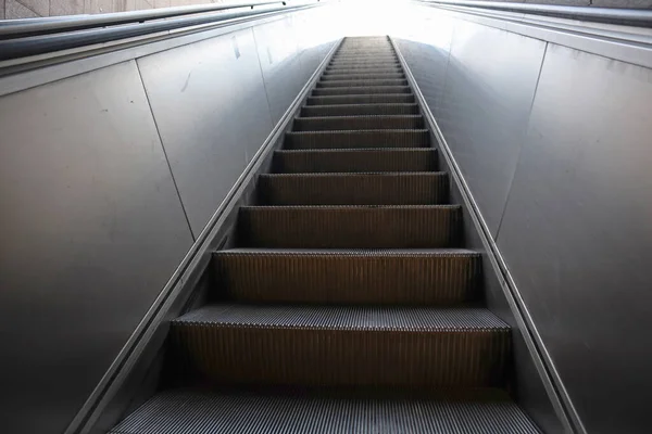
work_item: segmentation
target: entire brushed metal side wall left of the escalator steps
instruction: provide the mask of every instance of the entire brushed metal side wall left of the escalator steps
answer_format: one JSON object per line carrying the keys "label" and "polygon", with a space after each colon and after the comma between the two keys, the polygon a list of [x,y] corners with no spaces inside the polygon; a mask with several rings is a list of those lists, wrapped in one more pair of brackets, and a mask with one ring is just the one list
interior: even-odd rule
{"label": "entire brushed metal side wall left of the escalator steps", "polygon": [[0,97],[3,430],[66,429],[335,43],[299,40],[327,9]]}

